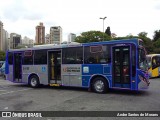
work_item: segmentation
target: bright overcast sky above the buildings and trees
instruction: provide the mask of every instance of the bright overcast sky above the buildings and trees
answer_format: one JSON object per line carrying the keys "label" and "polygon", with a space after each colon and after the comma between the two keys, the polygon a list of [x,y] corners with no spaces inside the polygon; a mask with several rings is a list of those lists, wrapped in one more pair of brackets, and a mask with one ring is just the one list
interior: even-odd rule
{"label": "bright overcast sky above the buildings and trees", "polygon": [[43,22],[45,33],[61,26],[63,41],[69,33],[80,35],[110,26],[117,36],[160,30],[160,0],[0,0],[0,21],[9,33],[35,39],[35,27]]}

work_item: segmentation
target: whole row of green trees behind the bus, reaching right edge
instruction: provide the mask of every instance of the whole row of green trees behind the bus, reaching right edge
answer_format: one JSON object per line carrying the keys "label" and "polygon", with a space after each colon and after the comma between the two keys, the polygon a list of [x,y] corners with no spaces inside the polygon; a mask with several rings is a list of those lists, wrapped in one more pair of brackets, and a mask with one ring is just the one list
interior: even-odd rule
{"label": "whole row of green trees behind the bus, reaching right edge", "polygon": [[80,36],[76,37],[76,42],[79,42],[79,43],[100,42],[100,41],[103,41],[103,37],[104,37],[104,41],[108,41],[112,39],[121,40],[121,39],[139,38],[143,40],[144,46],[148,54],[152,54],[152,53],[160,54],[160,30],[156,30],[154,32],[153,40],[151,40],[149,37],[147,37],[146,32],[140,32],[138,36],[133,36],[132,34],[129,34],[124,37],[116,37],[116,34],[115,35],[111,34],[111,36],[113,36],[111,37],[110,27],[107,29],[105,33],[100,31],[83,32],[81,33]]}

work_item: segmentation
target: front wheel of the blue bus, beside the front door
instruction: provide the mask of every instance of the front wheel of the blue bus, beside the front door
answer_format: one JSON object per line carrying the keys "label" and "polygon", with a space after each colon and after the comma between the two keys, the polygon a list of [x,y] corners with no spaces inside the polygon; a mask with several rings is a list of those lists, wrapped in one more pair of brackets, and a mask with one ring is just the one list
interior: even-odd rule
{"label": "front wheel of the blue bus, beside the front door", "polygon": [[96,93],[106,93],[109,90],[108,82],[103,77],[94,78],[91,87]]}

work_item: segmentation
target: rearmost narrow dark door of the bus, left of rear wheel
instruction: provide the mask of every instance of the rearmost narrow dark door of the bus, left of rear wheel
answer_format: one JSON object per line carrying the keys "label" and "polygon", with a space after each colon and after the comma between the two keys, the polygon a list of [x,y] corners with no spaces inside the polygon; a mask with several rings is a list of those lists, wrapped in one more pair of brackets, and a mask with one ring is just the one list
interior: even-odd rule
{"label": "rearmost narrow dark door of the bus, left of rear wheel", "polygon": [[22,53],[14,53],[13,81],[22,82]]}

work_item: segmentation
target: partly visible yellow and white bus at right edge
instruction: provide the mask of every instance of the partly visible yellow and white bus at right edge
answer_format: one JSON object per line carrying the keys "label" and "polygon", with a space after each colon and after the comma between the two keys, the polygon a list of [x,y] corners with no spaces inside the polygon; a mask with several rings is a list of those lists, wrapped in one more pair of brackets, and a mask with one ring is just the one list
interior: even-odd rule
{"label": "partly visible yellow and white bus at right edge", "polygon": [[149,54],[147,55],[149,77],[160,76],[160,54]]}

